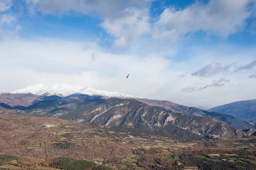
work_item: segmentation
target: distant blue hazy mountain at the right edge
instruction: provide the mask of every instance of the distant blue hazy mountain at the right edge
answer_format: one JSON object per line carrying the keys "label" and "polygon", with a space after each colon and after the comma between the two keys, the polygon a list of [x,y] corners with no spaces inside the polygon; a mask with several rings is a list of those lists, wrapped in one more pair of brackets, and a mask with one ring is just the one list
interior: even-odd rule
{"label": "distant blue hazy mountain at the right edge", "polygon": [[256,99],[244,100],[217,106],[209,109],[222,114],[228,114],[250,123],[256,122]]}

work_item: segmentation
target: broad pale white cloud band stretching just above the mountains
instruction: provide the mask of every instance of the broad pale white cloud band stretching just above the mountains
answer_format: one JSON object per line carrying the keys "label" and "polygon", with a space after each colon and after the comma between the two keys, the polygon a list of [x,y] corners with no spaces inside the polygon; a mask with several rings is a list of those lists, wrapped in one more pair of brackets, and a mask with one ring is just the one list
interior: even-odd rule
{"label": "broad pale white cloud band stretching just above the mountains", "polygon": [[[232,58],[234,62],[244,65],[249,63],[250,57],[254,57],[255,50],[250,53],[247,50],[249,59],[245,62],[242,51],[223,57],[220,50],[217,50],[219,54],[212,55],[207,49],[208,55],[198,51],[186,62],[175,62],[153,55],[146,58],[114,55],[99,47],[84,48],[81,42],[52,39],[12,40],[2,43],[0,51],[0,63],[3,63],[0,67],[0,91],[14,91],[38,83],[66,83],[204,108],[234,100],[253,99],[256,94],[256,79],[249,78],[255,69],[223,77],[230,83],[222,81],[224,79],[219,75],[204,79],[190,75],[212,59],[227,65]],[[94,52],[96,59],[93,61]],[[235,53],[237,57],[233,57]],[[129,79],[126,79],[127,74],[130,74]],[[180,75],[186,76],[180,78]],[[225,85],[214,87],[216,85],[212,84],[216,82],[212,80],[221,80],[220,83]],[[183,91],[186,87],[201,88],[201,91],[188,93]],[[241,88],[245,90],[237,93]]]}

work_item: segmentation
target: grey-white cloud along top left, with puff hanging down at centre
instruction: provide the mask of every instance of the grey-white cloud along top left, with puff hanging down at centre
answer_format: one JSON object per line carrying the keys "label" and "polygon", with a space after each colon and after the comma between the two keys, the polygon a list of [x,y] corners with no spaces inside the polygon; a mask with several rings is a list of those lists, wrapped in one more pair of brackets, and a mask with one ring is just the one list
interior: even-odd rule
{"label": "grey-white cloud along top left, with puff hanging down at centre", "polygon": [[114,47],[129,45],[148,32],[148,9],[152,0],[26,0],[30,14],[80,14],[99,16],[101,26],[115,37]]}

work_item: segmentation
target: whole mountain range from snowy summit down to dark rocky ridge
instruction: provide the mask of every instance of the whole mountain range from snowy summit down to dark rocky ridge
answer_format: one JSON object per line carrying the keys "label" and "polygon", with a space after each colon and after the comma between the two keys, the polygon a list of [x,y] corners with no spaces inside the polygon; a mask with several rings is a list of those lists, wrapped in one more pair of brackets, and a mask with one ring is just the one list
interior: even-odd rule
{"label": "whole mountain range from snowy summit down to dark rocky ridge", "polygon": [[61,84],[3,93],[0,103],[0,113],[40,114],[173,138],[241,137],[247,135],[241,129],[253,126],[215,111]]}

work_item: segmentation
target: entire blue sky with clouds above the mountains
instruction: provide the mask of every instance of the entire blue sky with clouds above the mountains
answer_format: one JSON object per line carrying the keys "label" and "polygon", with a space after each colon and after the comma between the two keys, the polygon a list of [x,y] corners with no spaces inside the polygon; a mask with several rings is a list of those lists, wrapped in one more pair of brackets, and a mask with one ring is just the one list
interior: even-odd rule
{"label": "entire blue sky with clouds above the mountains", "polygon": [[202,109],[256,99],[256,0],[0,0],[0,75],[1,92],[64,83]]}

